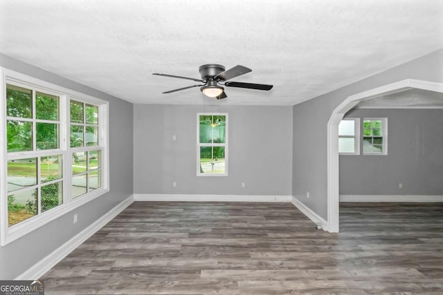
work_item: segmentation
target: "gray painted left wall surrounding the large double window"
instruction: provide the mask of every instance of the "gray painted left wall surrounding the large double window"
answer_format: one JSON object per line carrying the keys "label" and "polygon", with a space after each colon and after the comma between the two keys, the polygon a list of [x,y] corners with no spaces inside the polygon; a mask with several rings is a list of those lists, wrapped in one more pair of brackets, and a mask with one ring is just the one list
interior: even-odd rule
{"label": "gray painted left wall surrounding the large double window", "polygon": [[[0,247],[0,279],[12,279],[132,195],[132,104],[0,54],[0,66],[109,101],[110,191]],[[73,225],[73,214],[78,223]]]}

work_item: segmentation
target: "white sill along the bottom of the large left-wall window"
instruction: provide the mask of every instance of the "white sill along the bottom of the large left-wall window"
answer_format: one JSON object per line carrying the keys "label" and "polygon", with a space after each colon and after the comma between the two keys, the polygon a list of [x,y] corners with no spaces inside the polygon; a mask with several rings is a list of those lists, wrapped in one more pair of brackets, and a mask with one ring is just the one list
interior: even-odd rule
{"label": "white sill along the bottom of the large left-wall window", "polygon": [[48,222],[51,222],[60,216],[69,213],[70,211],[94,200],[103,194],[107,193],[109,189],[96,189],[87,195],[80,196],[68,204],[62,204],[59,207],[55,207],[49,211],[41,213],[37,216],[29,218],[28,220],[24,220],[23,222],[19,222],[17,225],[12,225],[12,227],[8,227],[6,232],[1,235],[1,246],[8,245],[10,242],[29,234],[31,231],[35,231],[39,227],[46,225]]}

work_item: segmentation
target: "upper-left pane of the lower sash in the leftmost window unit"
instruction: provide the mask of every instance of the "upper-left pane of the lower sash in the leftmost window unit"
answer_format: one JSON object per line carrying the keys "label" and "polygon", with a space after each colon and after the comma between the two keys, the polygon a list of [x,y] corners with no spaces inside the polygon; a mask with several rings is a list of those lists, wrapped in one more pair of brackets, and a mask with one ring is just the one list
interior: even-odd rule
{"label": "upper-left pane of the lower sash in the leftmost window unit", "polygon": [[8,191],[37,184],[37,158],[8,160]]}

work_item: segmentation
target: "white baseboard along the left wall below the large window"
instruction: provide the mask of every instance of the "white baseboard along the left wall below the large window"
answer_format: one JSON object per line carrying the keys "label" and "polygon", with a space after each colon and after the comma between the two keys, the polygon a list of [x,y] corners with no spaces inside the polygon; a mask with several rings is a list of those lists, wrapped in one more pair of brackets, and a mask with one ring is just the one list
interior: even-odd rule
{"label": "white baseboard along the left wall below the large window", "polygon": [[20,274],[15,280],[36,280],[40,278],[49,269],[54,267],[63,258],[68,256],[75,248],[80,246],[82,242],[87,240],[99,229],[105,226],[109,221],[116,217],[121,211],[125,210],[130,204],[134,202],[134,196],[130,196],[123,202],[120,202],[116,207],[107,212],[104,216],[98,218],[96,222],[89,225],[86,229],[83,229],[77,235],[73,236],[69,241],[65,242],[62,246],[55,249],[51,254],[40,260],[38,263],[30,267],[26,272]]}

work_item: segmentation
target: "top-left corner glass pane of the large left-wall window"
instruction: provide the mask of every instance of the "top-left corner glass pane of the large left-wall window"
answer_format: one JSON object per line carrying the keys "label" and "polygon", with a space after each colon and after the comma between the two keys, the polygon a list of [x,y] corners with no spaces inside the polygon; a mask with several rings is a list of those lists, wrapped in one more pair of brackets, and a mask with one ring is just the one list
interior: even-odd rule
{"label": "top-left corner glass pane of the large left-wall window", "polygon": [[33,117],[33,91],[6,85],[6,114],[9,117]]}

